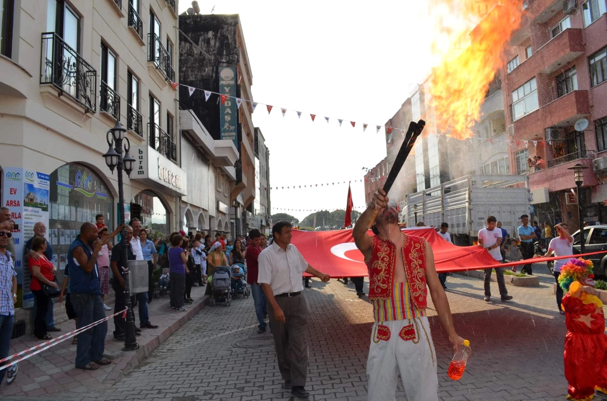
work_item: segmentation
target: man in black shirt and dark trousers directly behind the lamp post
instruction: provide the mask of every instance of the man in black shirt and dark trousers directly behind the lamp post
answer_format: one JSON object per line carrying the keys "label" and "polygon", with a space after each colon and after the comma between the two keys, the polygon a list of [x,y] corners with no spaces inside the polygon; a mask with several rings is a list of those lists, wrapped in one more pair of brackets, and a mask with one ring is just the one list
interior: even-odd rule
{"label": "man in black shirt and dark trousers directly behind the lamp post", "polygon": [[[127,260],[120,260],[122,258],[122,247],[124,246],[123,242],[120,241],[115,245],[114,249],[112,249],[112,258],[110,259],[110,267],[112,267],[112,272],[114,272],[114,280],[112,280],[112,288],[114,288],[114,293],[116,296],[116,300],[114,303],[114,313],[118,313],[124,310],[126,306],[126,299],[124,298],[124,268],[128,267],[128,260],[136,260],[135,254],[133,253],[133,248],[131,247],[131,239],[133,238],[133,228],[130,225],[126,226],[126,254]],[[135,326],[135,335],[140,336],[141,329]],[[117,314],[114,316],[114,339],[118,341],[124,341],[124,336],[126,333],[124,331],[124,319],[122,314]]]}

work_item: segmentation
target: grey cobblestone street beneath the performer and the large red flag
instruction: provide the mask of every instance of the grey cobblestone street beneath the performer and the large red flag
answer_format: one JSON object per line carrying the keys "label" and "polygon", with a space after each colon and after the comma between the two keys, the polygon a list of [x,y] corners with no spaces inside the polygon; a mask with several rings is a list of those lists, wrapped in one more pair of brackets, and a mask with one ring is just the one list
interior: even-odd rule
{"label": "grey cobblestone street beneath the performer and the large red flag", "polygon": [[[461,380],[447,377],[452,351],[430,305],[438,354],[439,398],[455,400],[563,400],[564,318],[557,313],[551,276],[534,265],[540,288],[508,286],[503,303],[483,301],[483,281],[453,274],[447,296],[458,333],[470,339],[474,354]],[[350,283],[314,280],[305,291],[310,309],[308,383],[310,400],[366,400],[365,363],[373,321],[371,305],[356,297]],[[365,292],[367,283],[365,282]],[[167,312],[170,313],[170,312]],[[253,299],[231,307],[204,307],[162,343],[151,357],[114,385],[52,400],[281,400],[271,334],[256,334]],[[401,389],[401,386],[399,386]],[[404,393],[396,394],[406,399]],[[7,397],[26,400],[39,398]],[[410,400],[414,401],[414,400]]]}

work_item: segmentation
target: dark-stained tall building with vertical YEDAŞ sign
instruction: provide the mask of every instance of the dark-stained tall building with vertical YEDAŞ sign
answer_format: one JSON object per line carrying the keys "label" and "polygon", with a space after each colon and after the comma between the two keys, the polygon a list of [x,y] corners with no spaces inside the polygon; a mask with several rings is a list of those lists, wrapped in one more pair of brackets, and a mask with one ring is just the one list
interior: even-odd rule
{"label": "dark-stained tall building with vertical YEDA\u015e sign", "polygon": [[[211,162],[215,170],[215,216],[209,216],[211,228],[244,234],[254,223],[254,200],[259,187],[256,180],[253,120],[253,75],[246,53],[244,33],[238,15],[179,16],[180,84],[196,88],[189,93],[180,87],[181,108],[191,110],[208,131],[216,151],[231,153],[237,160],[231,165]],[[209,98],[206,91],[212,91]],[[234,98],[220,101],[217,93]],[[230,159],[231,160],[231,159]],[[222,224],[220,224],[220,222]],[[226,225],[227,223],[227,225]],[[222,228],[223,227],[223,228]]]}

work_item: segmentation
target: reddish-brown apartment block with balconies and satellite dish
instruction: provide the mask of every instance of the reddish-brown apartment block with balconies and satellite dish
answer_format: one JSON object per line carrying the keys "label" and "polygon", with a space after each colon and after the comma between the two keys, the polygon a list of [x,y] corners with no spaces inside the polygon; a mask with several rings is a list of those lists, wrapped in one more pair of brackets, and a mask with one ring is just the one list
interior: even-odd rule
{"label": "reddish-brown apartment block with balconies and satellite dish", "polygon": [[[575,164],[583,174],[583,220],[607,220],[607,15],[605,0],[523,4],[504,71],[513,174],[529,174],[536,219],[578,228]],[[575,123],[581,125],[576,128]],[[583,121],[588,122],[584,127]],[[529,169],[527,159],[541,156]],[[593,164],[593,160],[597,159]]]}

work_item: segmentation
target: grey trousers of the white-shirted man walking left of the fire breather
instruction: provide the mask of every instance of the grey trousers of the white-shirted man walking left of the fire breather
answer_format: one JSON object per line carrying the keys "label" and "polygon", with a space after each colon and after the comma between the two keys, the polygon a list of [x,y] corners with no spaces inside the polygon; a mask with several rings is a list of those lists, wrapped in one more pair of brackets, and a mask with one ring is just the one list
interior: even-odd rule
{"label": "grey trousers of the white-shirted man walking left of the fire breather", "polygon": [[274,318],[269,303],[268,317],[280,374],[285,381],[291,380],[292,386],[305,386],[308,372],[308,347],[305,345],[308,306],[302,294],[276,297],[276,302],[285,314],[285,323]]}

